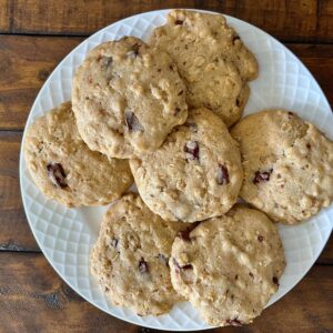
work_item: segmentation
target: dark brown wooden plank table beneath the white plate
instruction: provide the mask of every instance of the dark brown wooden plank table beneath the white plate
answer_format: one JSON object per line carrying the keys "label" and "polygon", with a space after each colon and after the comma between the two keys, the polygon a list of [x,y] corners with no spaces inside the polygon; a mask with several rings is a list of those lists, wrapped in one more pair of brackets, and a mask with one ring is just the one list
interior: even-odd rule
{"label": "dark brown wooden plank table beneath the white plate", "polygon": [[[228,13],[268,31],[305,63],[333,102],[332,0],[0,0],[1,332],[153,332],[95,309],[51,269],[23,212],[19,151],[31,104],[68,52],[119,19],[175,7]],[[302,282],[252,325],[214,331],[333,332],[332,309],[331,238]]]}

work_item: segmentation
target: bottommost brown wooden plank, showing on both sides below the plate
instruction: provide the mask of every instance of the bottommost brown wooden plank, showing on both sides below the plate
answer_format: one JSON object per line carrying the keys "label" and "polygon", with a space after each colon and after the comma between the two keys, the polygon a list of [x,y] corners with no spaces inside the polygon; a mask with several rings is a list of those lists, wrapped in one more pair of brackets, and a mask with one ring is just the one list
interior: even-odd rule
{"label": "bottommost brown wooden plank, showing on both sides below the plate", "polygon": [[[295,332],[295,324],[299,332],[329,332],[332,274],[333,266],[314,266],[253,324],[212,332],[285,333]],[[0,253],[0,321],[2,332],[160,332],[128,324],[84,302],[41,254]]]}

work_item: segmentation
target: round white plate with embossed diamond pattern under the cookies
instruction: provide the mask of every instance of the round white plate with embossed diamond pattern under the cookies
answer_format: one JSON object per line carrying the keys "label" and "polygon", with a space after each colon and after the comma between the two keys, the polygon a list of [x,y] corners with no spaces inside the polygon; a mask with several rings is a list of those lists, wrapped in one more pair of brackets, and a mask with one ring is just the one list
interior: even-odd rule
{"label": "round white plate with embossed diamond pattern under the cookies", "polygon": [[[167,13],[168,10],[161,10],[124,19],[83,41],[44,83],[31,109],[27,127],[48,110],[70,100],[72,75],[90,49],[123,36],[147,40],[155,27],[165,22]],[[285,108],[313,122],[333,139],[330,105],[301,61],[262,30],[231,17],[226,19],[255,54],[260,67],[259,78],[250,83],[251,95],[244,114],[264,108]],[[59,275],[87,301],[107,313],[142,326],[176,331],[209,327],[189,303],[176,304],[165,315],[143,317],[130,309],[113,306],[89,273],[89,252],[98,238],[105,208],[67,209],[47,200],[33,184],[22,153],[20,180],[28,221],[40,249]],[[287,265],[280,289],[269,304],[286,294],[313,265],[330,236],[332,224],[331,206],[301,225],[279,225]]]}

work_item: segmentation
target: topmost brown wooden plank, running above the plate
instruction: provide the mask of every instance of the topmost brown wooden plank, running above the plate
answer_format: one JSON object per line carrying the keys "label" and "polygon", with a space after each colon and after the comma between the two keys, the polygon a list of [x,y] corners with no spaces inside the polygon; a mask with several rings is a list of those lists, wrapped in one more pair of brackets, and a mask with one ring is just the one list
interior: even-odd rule
{"label": "topmost brown wooden plank, running above the plate", "polygon": [[[164,8],[218,11],[263,28],[283,41],[332,42],[333,10],[327,0],[9,0],[11,33],[91,34],[117,20]],[[2,30],[6,29],[2,28]]]}

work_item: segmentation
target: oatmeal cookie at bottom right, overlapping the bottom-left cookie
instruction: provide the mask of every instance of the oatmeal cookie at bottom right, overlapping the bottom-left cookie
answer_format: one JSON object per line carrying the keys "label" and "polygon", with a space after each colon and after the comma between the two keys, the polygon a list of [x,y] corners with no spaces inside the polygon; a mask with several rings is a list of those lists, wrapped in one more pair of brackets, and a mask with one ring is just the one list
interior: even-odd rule
{"label": "oatmeal cookie at bottom right, overlapping the bottom-left cookie", "polygon": [[275,225],[242,205],[176,238],[169,261],[179,294],[211,325],[251,323],[279,287],[285,261]]}

